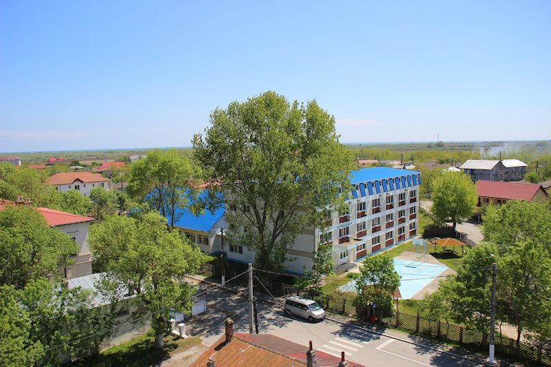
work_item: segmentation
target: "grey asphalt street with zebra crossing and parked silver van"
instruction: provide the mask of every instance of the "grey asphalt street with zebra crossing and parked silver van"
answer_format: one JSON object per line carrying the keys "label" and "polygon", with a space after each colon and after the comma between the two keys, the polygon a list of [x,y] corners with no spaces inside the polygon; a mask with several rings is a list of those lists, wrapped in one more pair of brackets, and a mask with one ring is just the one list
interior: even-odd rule
{"label": "grey asphalt street with zebra crossing and parked silver van", "polygon": [[[201,296],[211,307],[205,314],[198,315],[187,322],[189,335],[203,337],[203,344],[210,346],[223,333],[223,321],[231,315],[237,332],[248,333],[247,300],[220,289],[209,291]],[[245,308],[244,308],[245,307]],[[384,331],[378,335],[367,330],[341,322],[325,319],[322,322],[308,322],[295,319],[282,311],[282,306],[269,302],[259,302],[258,312],[260,333],[269,333],[304,346],[309,341],[317,350],[340,357],[341,351],[346,359],[365,366],[481,366],[468,359],[457,357],[439,350],[426,348],[432,346],[450,353],[474,357],[464,350],[452,349],[442,344],[433,344],[424,339],[412,337],[395,331]],[[393,338],[397,337],[397,339]],[[415,344],[412,344],[415,343]]]}

